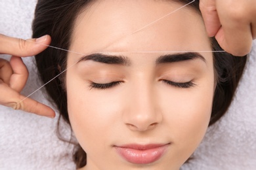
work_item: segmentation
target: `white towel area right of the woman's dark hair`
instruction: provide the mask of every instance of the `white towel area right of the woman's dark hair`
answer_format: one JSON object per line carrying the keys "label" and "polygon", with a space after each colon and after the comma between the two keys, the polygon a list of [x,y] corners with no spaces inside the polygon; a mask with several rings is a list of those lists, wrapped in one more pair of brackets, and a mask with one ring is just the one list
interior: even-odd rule
{"label": "white towel area right of the woman's dark hair", "polygon": [[[256,169],[256,41],[228,112],[210,127],[184,169]],[[182,169],[182,170],[184,170]]]}

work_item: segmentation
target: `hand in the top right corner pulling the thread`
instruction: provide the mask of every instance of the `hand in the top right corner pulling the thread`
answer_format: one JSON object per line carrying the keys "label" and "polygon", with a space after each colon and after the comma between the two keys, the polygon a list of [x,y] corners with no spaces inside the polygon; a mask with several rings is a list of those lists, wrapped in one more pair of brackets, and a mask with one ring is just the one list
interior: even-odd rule
{"label": "hand in the top right corner pulling the thread", "polygon": [[200,0],[209,37],[234,56],[245,56],[256,38],[256,0]]}

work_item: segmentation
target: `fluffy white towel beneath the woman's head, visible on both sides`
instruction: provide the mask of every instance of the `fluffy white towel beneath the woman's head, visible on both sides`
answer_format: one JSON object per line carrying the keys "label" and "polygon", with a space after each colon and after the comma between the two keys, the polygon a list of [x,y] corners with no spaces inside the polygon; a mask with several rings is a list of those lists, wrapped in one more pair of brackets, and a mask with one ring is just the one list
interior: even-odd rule
{"label": "fluffy white towel beneath the woman's head, visible on both sides", "polygon": [[[31,37],[35,3],[36,0],[0,0],[0,33],[23,39]],[[209,128],[194,160],[183,165],[183,170],[255,169],[256,42],[254,46],[232,106],[221,121]],[[40,83],[33,60],[24,61],[30,77],[22,93],[28,95]],[[42,91],[32,97],[51,104]],[[0,169],[75,169],[73,146],[58,139],[56,122],[57,119],[0,107]],[[65,131],[68,137],[70,131]]]}

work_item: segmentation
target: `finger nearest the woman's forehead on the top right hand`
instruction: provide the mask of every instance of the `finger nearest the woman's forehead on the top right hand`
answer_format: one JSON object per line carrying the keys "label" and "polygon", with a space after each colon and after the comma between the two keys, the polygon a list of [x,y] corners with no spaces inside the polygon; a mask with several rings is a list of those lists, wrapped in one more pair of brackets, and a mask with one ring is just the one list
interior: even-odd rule
{"label": "finger nearest the woman's forehead on the top right hand", "polygon": [[214,37],[221,27],[215,0],[201,0],[200,10],[209,37]]}

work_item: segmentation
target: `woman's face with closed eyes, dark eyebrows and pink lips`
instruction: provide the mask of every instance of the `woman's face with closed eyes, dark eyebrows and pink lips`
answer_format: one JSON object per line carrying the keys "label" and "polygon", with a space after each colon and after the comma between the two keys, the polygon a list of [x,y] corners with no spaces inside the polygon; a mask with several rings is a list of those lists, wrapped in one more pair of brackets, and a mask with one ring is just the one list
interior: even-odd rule
{"label": "woman's face with closed eyes, dark eyebrows and pink lips", "polygon": [[86,169],[179,169],[202,141],[213,56],[186,52],[211,50],[202,18],[186,7],[137,31],[181,6],[98,1],[77,17],[70,50],[89,55],[68,56],[68,67],[83,59],[66,88]]}

